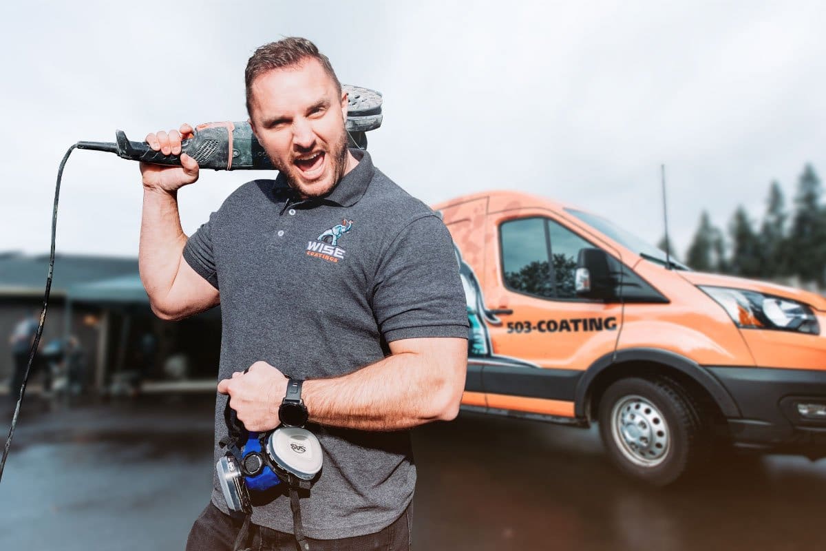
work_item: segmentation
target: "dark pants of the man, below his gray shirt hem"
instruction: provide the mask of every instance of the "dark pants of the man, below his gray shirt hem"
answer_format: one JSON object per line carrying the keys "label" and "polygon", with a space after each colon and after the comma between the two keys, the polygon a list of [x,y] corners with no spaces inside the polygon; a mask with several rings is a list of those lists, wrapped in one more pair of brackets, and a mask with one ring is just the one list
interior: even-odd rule
{"label": "dark pants of the man, below his gray shirt hem", "polygon": [[[311,539],[310,551],[409,551],[413,506],[384,530],[375,534],[342,539]],[[187,551],[232,551],[243,520],[225,515],[210,501],[192,525],[187,539]],[[249,549],[253,551],[296,551],[292,534],[263,526],[249,525]]]}

